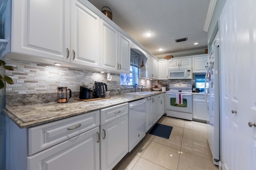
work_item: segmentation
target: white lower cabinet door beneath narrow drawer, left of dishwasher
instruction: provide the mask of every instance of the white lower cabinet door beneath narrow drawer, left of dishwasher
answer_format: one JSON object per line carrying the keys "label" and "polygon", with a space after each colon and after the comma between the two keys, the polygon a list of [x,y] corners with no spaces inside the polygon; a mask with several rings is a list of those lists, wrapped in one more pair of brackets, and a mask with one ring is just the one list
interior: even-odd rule
{"label": "white lower cabinet door beneath narrow drawer, left of dishwasher", "polygon": [[100,132],[100,169],[112,170],[128,153],[128,115],[101,125]]}

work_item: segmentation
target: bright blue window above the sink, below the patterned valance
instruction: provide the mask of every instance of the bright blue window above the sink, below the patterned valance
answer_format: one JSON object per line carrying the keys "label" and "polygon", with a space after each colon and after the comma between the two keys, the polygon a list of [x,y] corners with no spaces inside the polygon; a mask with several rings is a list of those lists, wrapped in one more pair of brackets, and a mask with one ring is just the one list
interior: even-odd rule
{"label": "bright blue window above the sink, below the patterned valance", "polygon": [[120,74],[120,84],[132,86],[134,83],[138,84],[138,67],[130,66],[130,74],[121,73]]}

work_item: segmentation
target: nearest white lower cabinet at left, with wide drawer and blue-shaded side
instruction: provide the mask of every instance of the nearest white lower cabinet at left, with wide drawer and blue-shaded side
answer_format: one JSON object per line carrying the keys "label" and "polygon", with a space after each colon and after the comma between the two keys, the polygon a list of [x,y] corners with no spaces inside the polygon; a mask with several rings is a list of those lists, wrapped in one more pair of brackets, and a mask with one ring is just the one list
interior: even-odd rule
{"label": "nearest white lower cabinet at left, with wide drawer and blue-shaded side", "polygon": [[100,111],[20,129],[8,119],[8,170],[100,170]]}

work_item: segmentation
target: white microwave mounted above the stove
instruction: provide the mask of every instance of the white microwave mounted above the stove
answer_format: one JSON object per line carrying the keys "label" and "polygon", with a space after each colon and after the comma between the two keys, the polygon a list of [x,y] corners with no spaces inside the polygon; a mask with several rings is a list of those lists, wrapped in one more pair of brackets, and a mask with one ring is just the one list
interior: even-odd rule
{"label": "white microwave mounted above the stove", "polygon": [[191,68],[169,69],[168,79],[192,79],[192,69]]}

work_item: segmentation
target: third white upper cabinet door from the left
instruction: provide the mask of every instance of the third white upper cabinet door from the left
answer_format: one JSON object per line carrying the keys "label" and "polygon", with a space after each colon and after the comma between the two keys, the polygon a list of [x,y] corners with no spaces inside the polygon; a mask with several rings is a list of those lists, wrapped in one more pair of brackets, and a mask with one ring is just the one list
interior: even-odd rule
{"label": "third white upper cabinet door from the left", "polygon": [[100,19],[101,68],[118,72],[118,31]]}

